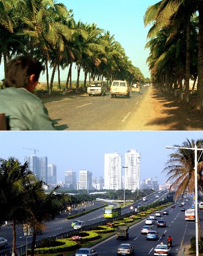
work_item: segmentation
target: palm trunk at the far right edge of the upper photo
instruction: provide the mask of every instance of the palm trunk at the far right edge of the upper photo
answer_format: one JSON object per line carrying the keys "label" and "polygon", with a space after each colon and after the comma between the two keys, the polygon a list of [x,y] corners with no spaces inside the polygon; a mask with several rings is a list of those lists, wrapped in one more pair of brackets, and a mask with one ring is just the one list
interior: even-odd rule
{"label": "palm trunk at the far right edge of the upper photo", "polygon": [[197,109],[203,106],[203,5],[199,4],[199,36],[198,36],[198,66],[197,66]]}

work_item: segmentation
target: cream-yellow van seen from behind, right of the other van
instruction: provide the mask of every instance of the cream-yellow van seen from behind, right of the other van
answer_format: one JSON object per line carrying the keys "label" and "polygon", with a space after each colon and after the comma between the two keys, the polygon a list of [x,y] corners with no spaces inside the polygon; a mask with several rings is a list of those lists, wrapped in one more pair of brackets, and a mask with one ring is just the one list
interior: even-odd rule
{"label": "cream-yellow van seen from behind, right of the other van", "polygon": [[114,80],[110,88],[111,97],[116,97],[118,95],[123,95],[127,98],[130,97],[130,87],[127,81]]}

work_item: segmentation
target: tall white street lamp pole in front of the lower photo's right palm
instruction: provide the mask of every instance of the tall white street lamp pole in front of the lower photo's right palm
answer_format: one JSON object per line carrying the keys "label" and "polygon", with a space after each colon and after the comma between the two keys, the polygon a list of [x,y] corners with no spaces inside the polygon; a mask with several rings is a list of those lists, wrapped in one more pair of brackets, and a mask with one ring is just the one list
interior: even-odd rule
{"label": "tall white street lamp pole in front of the lower photo's right palm", "polygon": [[203,148],[194,147],[177,147],[177,146],[166,146],[166,148],[181,148],[183,150],[194,150],[194,193],[195,193],[195,236],[196,236],[196,256],[199,255],[198,248],[198,209],[197,209],[197,150],[203,151]]}

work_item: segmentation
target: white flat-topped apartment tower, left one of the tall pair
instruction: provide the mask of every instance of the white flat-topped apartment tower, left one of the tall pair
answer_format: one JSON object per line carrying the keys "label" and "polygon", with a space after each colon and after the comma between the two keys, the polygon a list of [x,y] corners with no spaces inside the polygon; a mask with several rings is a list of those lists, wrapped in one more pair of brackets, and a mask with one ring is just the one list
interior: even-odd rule
{"label": "white flat-topped apartment tower, left one of the tall pair", "polygon": [[122,156],[118,153],[105,154],[105,186],[106,189],[121,189]]}

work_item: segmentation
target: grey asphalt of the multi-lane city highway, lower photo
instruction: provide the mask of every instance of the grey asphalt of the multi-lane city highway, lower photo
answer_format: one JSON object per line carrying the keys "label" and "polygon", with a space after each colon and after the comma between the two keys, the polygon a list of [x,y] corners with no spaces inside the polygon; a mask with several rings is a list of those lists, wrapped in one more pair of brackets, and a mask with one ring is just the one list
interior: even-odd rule
{"label": "grey asphalt of the multi-lane city highway, lower photo", "polygon": [[[164,193],[160,195],[164,196]],[[154,195],[147,197],[147,201],[141,202],[143,205],[149,204],[157,200]],[[181,201],[180,201],[181,202]],[[98,206],[100,203],[96,202],[95,206]],[[110,203],[112,204],[112,203]],[[186,209],[190,208],[192,204],[192,199],[189,200]],[[134,204],[135,205],[135,204]],[[91,206],[91,207],[95,207]],[[94,249],[97,251],[98,255],[105,255],[107,252],[109,255],[117,255],[117,248],[121,243],[131,243],[135,247],[135,255],[153,255],[155,246],[158,243],[167,243],[167,237],[171,236],[173,238],[173,244],[171,247],[171,255],[179,255],[184,244],[190,244],[190,239],[192,236],[195,236],[195,222],[185,221],[185,212],[180,211],[180,207],[176,204],[175,210],[172,210],[171,207],[168,207],[169,215],[157,217],[157,220],[164,219],[166,221],[165,228],[157,228],[156,223],[153,226],[155,230],[159,232],[159,241],[146,241],[146,235],[141,234],[141,228],[145,225],[145,221],[131,226],[129,229],[129,240],[116,240],[116,237],[113,236],[108,240],[105,240],[103,243],[97,244],[94,246]],[[80,210],[79,210],[80,211]],[[81,209],[82,211],[82,209]],[[122,209],[122,214],[132,211],[129,206]],[[52,237],[59,233],[72,230],[71,221],[66,220],[66,215],[61,215],[56,220],[46,223],[46,230],[37,237],[37,240],[46,237]],[[203,212],[199,212],[200,223],[203,222]],[[90,212],[79,218],[81,221],[85,221],[86,225],[97,223],[104,220],[104,210],[103,208],[97,209]],[[12,246],[12,226],[2,227],[0,230],[0,236],[8,239],[9,245],[8,248]],[[28,237],[28,243],[32,242],[32,237]],[[26,244],[26,237],[23,237],[22,227],[16,229],[16,246]]]}

